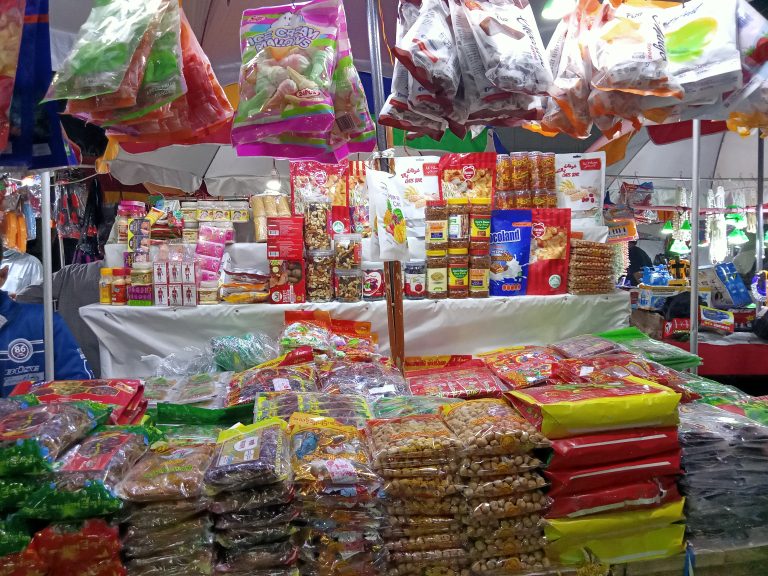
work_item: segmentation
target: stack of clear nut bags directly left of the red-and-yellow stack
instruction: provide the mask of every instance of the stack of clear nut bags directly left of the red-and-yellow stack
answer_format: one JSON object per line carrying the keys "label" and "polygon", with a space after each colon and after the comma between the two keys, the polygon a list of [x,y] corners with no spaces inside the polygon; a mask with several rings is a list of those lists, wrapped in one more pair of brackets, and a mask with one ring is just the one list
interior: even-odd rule
{"label": "stack of clear nut bags directly left of the red-and-yellow stack", "polygon": [[441,414],[463,445],[455,487],[463,496],[462,532],[474,574],[511,574],[549,566],[541,517],[549,500],[540,432],[503,399],[443,406]]}

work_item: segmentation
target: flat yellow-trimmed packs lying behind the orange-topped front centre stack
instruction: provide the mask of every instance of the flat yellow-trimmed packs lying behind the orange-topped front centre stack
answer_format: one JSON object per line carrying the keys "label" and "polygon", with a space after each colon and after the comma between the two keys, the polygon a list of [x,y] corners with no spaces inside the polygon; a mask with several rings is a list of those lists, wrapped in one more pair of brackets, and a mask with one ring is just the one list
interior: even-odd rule
{"label": "flat yellow-trimmed packs lying behind the orange-topped front centre stack", "polygon": [[358,428],[371,418],[365,398],[354,394],[327,394],[322,392],[274,392],[259,394],[253,409],[255,421],[267,418],[288,420],[294,412],[333,418]]}

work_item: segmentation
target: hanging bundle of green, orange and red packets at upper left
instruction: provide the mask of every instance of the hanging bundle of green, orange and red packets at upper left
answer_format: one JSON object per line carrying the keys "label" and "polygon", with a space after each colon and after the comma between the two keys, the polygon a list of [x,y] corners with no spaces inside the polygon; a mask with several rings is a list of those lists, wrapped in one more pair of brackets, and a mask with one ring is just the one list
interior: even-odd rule
{"label": "hanging bundle of green, orange and red packets at upper left", "polygon": [[120,142],[205,142],[233,110],[176,0],[97,3],[46,101]]}

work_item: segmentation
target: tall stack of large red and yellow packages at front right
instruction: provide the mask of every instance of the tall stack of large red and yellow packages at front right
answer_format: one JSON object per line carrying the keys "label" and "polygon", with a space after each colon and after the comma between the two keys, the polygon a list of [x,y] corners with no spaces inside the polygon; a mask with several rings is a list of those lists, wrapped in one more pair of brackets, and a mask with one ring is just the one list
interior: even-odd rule
{"label": "tall stack of large red and yellow packages at front right", "polygon": [[[617,347],[586,336],[554,349],[574,358]],[[628,376],[563,381],[509,396],[552,443],[545,471],[552,499],[545,534],[552,561],[579,564],[585,549],[603,563],[682,552],[679,394]]]}

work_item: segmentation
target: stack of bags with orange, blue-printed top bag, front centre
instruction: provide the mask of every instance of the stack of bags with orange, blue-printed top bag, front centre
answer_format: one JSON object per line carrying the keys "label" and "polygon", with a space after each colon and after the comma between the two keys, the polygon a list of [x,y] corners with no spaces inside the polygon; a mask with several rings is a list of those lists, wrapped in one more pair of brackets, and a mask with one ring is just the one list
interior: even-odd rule
{"label": "stack of bags with orange, blue-printed top bag, front centre", "polygon": [[381,478],[362,433],[333,418],[296,412],[289,420],[291,462],[305,523],[302,576],[376,576],[381,539]]}

